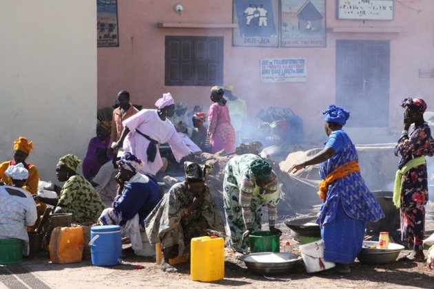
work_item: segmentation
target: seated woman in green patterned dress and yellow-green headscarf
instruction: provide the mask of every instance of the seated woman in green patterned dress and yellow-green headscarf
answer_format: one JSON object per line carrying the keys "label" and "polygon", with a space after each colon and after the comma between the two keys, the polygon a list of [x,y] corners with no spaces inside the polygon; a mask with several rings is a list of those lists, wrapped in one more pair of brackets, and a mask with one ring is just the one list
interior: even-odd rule
{"label": "seated woman in green patterned dress and yellow-green headscarf", "polygon": [[38,195],[35,195],[34,198],[56,206],[54,213],[73,213],[73,220],[76,223],[96,222],[105,205],[92,184],[76,173],[80,162],[81,160],[72,154],[59,159],[56,176],[59,182],[65,182],[65,184],[63,184],[63,188],[54,186],[54,191],[59,195],[58,199],[39,197]]}

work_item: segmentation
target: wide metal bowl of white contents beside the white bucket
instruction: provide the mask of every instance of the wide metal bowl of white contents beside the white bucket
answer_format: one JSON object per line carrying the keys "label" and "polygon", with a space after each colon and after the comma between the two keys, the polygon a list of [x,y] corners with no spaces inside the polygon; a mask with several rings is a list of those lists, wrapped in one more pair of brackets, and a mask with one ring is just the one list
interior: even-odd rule
{"label": "wide metal bowl of white contents beside the white bucket", "polygon": [[[267,260],[268,259],[268,260]],[[247,269],[258,275],[287,274],[302,257],[292,253],[253,253],[243,255]]]}

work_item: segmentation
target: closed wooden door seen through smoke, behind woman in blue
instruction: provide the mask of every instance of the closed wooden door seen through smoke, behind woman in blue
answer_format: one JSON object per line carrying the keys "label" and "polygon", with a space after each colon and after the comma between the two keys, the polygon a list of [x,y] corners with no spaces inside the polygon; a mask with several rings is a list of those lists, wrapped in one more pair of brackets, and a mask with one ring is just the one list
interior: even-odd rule
{"label": "closed wooden door seen through smoke, behind woman in blue", "polygon": [[389,41],[336,41],[336,104],[350,127],[389,125]]}

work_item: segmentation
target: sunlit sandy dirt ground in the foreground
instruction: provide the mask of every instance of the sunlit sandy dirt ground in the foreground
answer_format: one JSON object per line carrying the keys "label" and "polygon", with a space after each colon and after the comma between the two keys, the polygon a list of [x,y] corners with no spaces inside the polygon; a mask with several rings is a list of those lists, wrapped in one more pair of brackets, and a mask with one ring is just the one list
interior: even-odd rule
{"label": "sunlit sandy dirt ground in the foreground", "polygon": [[[434,232],[434,204],[427,209],[426,235],[431,235]],[[299,254],[298,245],[293,242],[291,231],[283,221],[277,225],[283,231],[281,244],[291,242],[293,253]],[[154,258],[136,256],[129,245],[124,247],[123,264],[114,267],[92,266],[90,260],[79,264],[52,264],[48,253],[41,252],[21,264],[0,266],[0,288],[434,288],[434,270],[429,270],[426,263],[397,261],[373,266],[356,260],[349,275],[307,274],[300,263],[288,274],[274,276],[284,280],[269,280],[249,272],[229,250],[225,252],[225,279],[203,283],[190,280],[188,263],[176,265],[177,272],[165,273],[155,264]],[[402,251],[400,257],[406,253],[409,251]],[[39,283],[31,281],[28,275],[36,277]],[[21,280],[19,286],[11,283],[12,277]]]}

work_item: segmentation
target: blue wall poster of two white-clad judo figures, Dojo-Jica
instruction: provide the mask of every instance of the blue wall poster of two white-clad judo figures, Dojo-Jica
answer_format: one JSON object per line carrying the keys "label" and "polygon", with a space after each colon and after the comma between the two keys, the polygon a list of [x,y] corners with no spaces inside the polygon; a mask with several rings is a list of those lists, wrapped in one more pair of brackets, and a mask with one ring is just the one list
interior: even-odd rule
{"label": "blue wall poster of two white-clad judo figures, Dojo-Jica", "polygon": [[234,0],[232,45],[277,47],[278,0]]}

